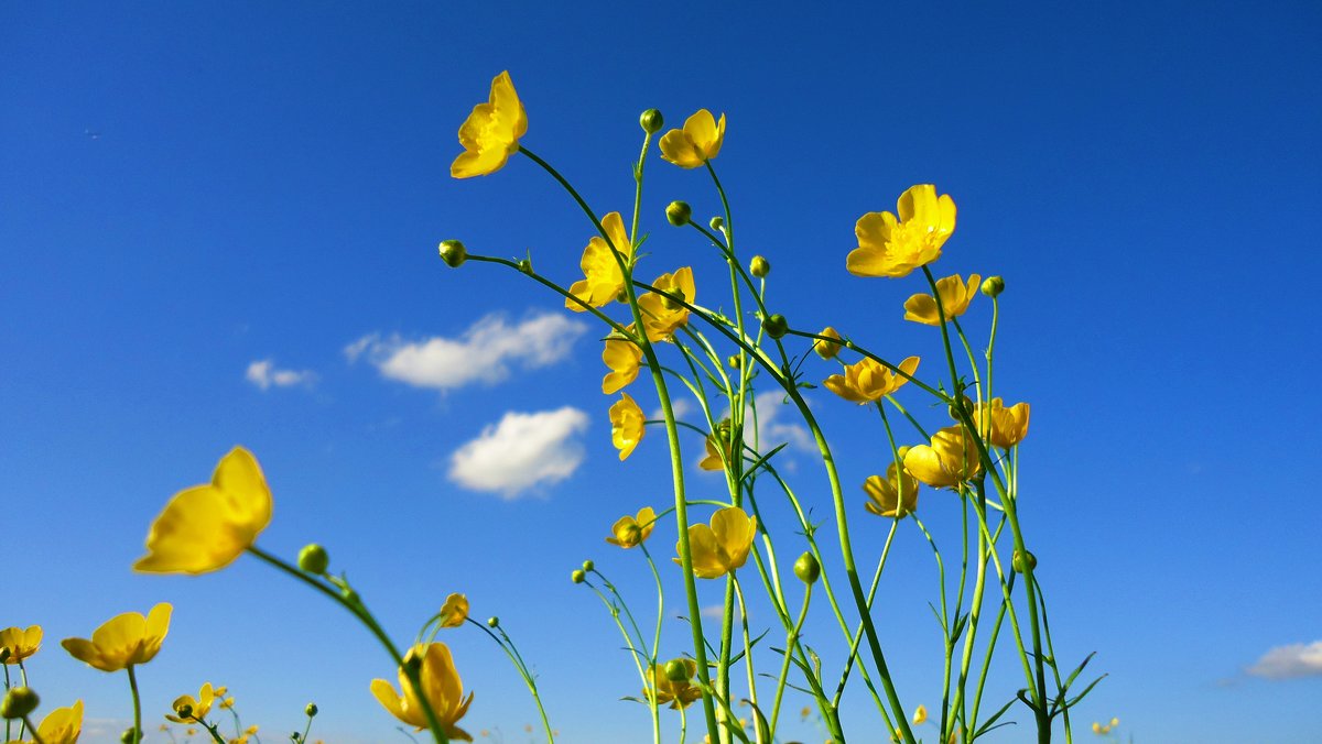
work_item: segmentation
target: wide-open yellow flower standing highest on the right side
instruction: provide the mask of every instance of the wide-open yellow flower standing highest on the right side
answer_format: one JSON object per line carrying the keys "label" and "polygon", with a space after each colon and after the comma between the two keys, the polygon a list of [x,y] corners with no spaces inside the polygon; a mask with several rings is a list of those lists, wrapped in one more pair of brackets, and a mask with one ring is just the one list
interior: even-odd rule
{"label": "wide-open yellow flower standing highest on the right side", "polygon": [[858,247],[846,267],[857,276],[908,276],[920,266],[941,258],[941,246],[954,231],[954,201],[936,196],[936,186],[919,184],[900,194],[899,219],[888,211],[869,211],[858,218]]}

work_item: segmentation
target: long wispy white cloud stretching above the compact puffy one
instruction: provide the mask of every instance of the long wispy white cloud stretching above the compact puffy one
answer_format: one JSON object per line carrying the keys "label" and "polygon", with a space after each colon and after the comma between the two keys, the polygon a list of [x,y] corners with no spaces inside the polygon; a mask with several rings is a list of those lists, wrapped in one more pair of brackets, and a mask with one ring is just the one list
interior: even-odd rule
{"label": "long wispy white cloud stretching above the compact puffy one", "polygon": [[451,390],[480,382],[494,385],[510,374],[510,363],[537,369],[559,362],[587,330],[563,315],[541,315],[518,325],[486,316],[459,338],[434,336],[405,341],[399,336],[364,336],[344,349],[350,362],[366,354],[383,377],[412,385]]}

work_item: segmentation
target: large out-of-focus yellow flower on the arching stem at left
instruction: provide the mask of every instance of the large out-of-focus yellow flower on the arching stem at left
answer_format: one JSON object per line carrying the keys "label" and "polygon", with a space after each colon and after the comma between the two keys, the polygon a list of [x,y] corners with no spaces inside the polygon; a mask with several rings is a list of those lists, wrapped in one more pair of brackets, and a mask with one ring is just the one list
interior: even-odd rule
{"label": "large out-of-focus yellow flower on the arching stem at left", "polygon": [[147,534],[147,574],[206,574],[225,568],[271,522],[271,489],[253,453],[235,447],[212,482],[175,494]]}

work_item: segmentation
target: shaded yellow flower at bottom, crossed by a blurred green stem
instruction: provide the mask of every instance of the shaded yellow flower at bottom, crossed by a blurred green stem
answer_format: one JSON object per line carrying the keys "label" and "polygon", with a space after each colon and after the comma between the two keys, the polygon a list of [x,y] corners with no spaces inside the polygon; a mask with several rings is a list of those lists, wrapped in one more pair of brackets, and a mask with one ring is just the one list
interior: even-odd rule
{"label": "shaded yellow flower at bottom, crossed by a blurred green stem", "polygon": [[[459,671],[455,670],[455,659],[449,655],[449,649],[446,644],[416,645],[408,650],[405,662],[418,657],[422,657],[419,671],[422,694],[431,703],[431,710],[440,720],[446,735],[451,739],[472,741],[473,737],[467,731],[455,725],[468,712],[473,694],[469,692],[468,698],[464,698],[464,685],[459,679]],[[390,715],[416,727],[418,731],[427,728],[427,714],[422,710],[418,692],[414,691],[402,669],[399,670],[399,688],[403,690],[403,694],[397,692],[394,686],[385,679],[371,681],[371,694],[377,696],[377,702],[383,708],[390,711]]]}

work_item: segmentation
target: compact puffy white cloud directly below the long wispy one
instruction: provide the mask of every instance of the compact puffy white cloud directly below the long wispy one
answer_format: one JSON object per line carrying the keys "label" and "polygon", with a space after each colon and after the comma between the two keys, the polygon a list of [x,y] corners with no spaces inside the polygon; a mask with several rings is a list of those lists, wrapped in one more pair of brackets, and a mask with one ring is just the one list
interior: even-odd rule
{"label": "compact puffy white cloud directly below the long wispy one", "polygon": [[583,445],[574,436],[587,424],[587,414],[570,406],[537,414],[510,411],[451,455],[449,480],[506,500],[539,484],[563,481],[583,463]]}

